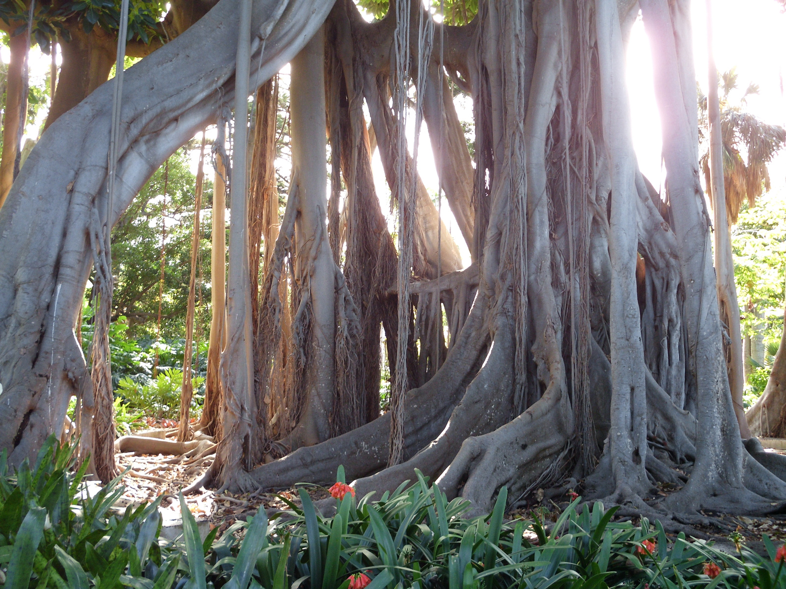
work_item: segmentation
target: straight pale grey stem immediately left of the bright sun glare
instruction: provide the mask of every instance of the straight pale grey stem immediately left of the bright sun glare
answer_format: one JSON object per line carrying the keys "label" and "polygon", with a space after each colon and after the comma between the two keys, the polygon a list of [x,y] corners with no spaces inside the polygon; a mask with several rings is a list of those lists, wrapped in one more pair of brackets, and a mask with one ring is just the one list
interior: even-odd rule
{"label": "straight pale grey stem immediately left of the bright sun glare", "polygon": [[595,2],[604,144],[611,175],[608,253],[612,266],[609,327],[612,352],[608,452],[620,497],[648,490],[644,346],[636,289],[638,235],[636,156],[623,84],[623,39],[615,0]]}

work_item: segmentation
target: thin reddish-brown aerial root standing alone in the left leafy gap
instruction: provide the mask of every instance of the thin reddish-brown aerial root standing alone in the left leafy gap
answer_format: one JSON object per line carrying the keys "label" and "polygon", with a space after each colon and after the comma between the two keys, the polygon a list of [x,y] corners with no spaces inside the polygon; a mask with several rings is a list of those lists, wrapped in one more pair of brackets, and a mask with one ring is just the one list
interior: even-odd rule
{"label": "thin reddish-brown aerial root standing alone in the left leafy gap", "polygon": [[196,265],[199,263],[200,210],[202,208],[202,186],[204,184],[204,131],[196,167],[196,189],[194,197],[194,230],[191,238],[191,277],[189,279],[189,305],[185,312],[185,349],[183,351],[183,382],[180,389],[180,424],[178,441],[189,441],[193,436],[189,425],[189,409],[193,398],[193,379],[191,364],[193,362],[194,341],[194,307],[196,305]]}

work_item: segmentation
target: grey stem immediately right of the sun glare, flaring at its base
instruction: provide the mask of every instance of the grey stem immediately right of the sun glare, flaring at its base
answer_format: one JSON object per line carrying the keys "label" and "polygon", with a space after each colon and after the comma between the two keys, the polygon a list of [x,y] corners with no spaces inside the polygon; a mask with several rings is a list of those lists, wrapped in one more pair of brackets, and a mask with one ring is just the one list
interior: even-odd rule
{"label": "grey stem immediately right of the sun glare, flaring at its base", "polygon": [[[751,459],[744,452],[734,415],[729,380],[722,349],[721,324],[715,273],[712,267],[710,219],[703,203],[696,157],[695,83],[685,88],[685,74],[692,66],[689,53],[682,52],[676,35],[684,40],[685,2],[676,5],[674,24],[666,0],[641,0],[645,30],[652,44],[656,99],[663,117],[663,159],[666,164],[674,232],[678,238],[685,288],[683,317],[687,335],[688,379],[695,399],[688,406],[696,414],[704,433],[696,440],[696,463],[688,483],[667,500],[680,511],[699,507],[755,510],[766,499],[786,498],[786,488],[773,475],[752,474]],[[690,78],[692,80],[692,78]],[[691,403],[692,401],[692,403]],[[764,471],[766,473],[766,471]],[[755,477],[755,484],[751,481]],[[757,488],[750,490],[746,485]],[[771,508],[771,506],[769,506]]]}

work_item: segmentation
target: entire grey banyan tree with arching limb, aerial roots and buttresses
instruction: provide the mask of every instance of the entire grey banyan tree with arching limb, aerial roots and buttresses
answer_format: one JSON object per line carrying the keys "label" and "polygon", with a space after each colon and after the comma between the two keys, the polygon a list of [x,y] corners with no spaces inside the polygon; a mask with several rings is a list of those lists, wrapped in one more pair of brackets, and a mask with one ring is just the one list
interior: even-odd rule
{"label": "entire grey banyan tree with arching limb, aerial roots and buttresses", "polygon": [[[779,509],[786,468],[740,437],[729,387],[688,0],[479,0],[444,18],[440,2],[387,4],[369,22],[351,0],[221,0],[127,70],[119,100],[110,80],[49,126],[0,209],[10,462],[59,432],[72,396],[101,452],[111,391],[74,332],[86,280],[94,266],[111,276],[105,229],[215,124],[230,269],[202,423],[221,441],[195,487],[328,484],[343,465],[361,495],[420,470],[476,510],[502,485],[515,503],[567,477],[675,526],[700,508]],[[630,132],[626,38],[639,14],[661,192]],[[273,78],[288,62],[279,218]],[[472,98],[472,156],[457,92]],[[407,124],[428,128],[437,204]],[[391,203],[374,183],[377,149]],[[681,488],[663,498],[658,482]]]}

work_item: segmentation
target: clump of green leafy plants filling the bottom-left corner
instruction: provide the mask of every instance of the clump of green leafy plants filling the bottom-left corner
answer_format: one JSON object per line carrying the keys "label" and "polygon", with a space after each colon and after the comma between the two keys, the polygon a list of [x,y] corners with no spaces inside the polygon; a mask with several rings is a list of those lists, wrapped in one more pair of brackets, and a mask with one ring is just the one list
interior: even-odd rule
{"label": "clump of green leafy plants filling the bottom-left corner", "polygon": [[[5,587],[153,587],[166,562],[179,558],[160,547],[160,499],[129,507],[122,517],[112,504],[123,494],[120,478],[90,496],[83,485],[87,463],[77,470],[75,446],[50,437],[35,466],[27,459],[10,473],[0,456],[0,567]],[[163,585],[161,585],[163,587]],[[171,585],[166,585],[171,587]]]}

